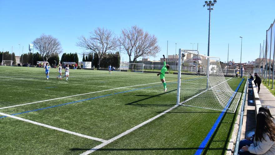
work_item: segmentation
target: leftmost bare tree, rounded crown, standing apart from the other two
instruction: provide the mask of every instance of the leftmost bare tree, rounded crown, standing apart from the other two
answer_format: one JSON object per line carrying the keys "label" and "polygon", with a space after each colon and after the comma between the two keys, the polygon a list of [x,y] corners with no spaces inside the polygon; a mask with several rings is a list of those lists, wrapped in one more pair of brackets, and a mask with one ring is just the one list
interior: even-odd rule
{"label": "leftmost bare tree, rounded crown, standing apart from the other two", "polygon": [[39,38],[36,38],[32,44],[34,48],[40,52],[44,61],[48,61],[50,57],[62,53],[60,42],[51,35],[42,34]]}

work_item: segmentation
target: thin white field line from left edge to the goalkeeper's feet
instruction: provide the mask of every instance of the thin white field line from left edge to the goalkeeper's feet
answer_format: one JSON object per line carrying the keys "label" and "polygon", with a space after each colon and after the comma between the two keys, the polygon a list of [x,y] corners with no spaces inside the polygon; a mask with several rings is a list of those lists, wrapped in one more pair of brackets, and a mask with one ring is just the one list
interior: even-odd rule
{"label": "thin white field line from left edge to the goalkeeper's feet", "polygon": [[[142,84],[142,85],[152,85],[152,84],[156,84],[156,83],[161,83],[161,82],[148,83],[148,84]],[[34,104],[34,103],[40,103],[40,102],[46,102],[46,101],[53,101],[53,100],[58,100],[58,99],[63,99],[63,98],[68,98],[68,97],[81,96],[81,95],[93,94],[93,93],[98,93],[98,92],[103,92],[103,91],[110,91],[110,90],[116,90],[116,89],[122,89],[122,88],[136,87],[136,86],[141,86],[141,85],[131,85],[131,86],[113,88],[113,89],[108,89],[108,90],[94,91],[94,92],[89,92],[89,93],[84,93],[84,94],[59,97],[59,98],[54,98],[54,99],[49,99],[49,100],[43,100],[43,101],[36,101],[36,102],[25,103],[25,104],[20,104],[20,105],[6,106],[6,107],[2,107],[0,109],[6,109],[6,108],[11,108],[11,107],[16,107],[16,106],[24,106],[24,105],[28,105],[28,104]]]}

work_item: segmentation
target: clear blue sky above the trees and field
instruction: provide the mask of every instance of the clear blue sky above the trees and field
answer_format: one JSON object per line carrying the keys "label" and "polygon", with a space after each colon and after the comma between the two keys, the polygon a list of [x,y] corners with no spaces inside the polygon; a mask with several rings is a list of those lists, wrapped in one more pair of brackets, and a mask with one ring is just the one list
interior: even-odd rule
{"label": "clear blue sky above the trees and field", "polygon": [[[228,43],[229,60],[240,61],[239,36],[243,37],[242,62],[256,59],[275,18],[274,0],[235,2],[217,0],[212,11],[210,56],[223,62],[227,61]],[[76,46],[81,35],[104,27],[119,36],[122,28],[138,25],[158,38],[161,52],[156,60],[166,55],[167,40],[168,55],[175,54],[175,43],[177,49],[192,49],[190,43],[196,49],[198,43],[200,53],[207,54],[208,11],[203,4],[203,0],[0,0],[0,49],[11,51],[13,46],[19,55],[21,44],[20,53],[22,46],[27,53],[28,44],[44,33],[57,38],[63,52],[77,52],[82,60],[83,49]],[[127,54],[122,57],[128,60]]]}

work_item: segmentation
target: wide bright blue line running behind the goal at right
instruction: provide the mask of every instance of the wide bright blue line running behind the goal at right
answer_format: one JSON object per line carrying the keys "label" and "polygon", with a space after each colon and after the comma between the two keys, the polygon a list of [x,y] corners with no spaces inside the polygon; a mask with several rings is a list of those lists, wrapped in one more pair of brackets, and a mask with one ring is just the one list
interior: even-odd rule
{"label": "wide bright blue line running behind the goal at right", "polygon": [[[243,79],[242,79],[242,81],[243,81]],[[198,149],[197,149],[197,151],[195,152],[194,155],[200,155],[202,153],[204,147],[206,146],[207,142],[209,141],[209,139],[211,138],[212,134],[216,130],[218,124],[220,123],[220,121],[222,119],[222,116],[224,115],[225,111],[227,110],[228,106],[230,105],[230,102],[234,98],[234,95],[237,93],[239,87],[241,86],[242,81],[239,83],[239,85],[237,86],[236,90],[233,92],[232,96],[230,97],[230,99],[227,102],[227,105],[224,107],[224,109],[222,110],[221,114],[218,116],[217,120],[213,124],[212,128],[210,129],[210,131],[207,133],[206,137],[203,139],[202,143],[200,144],[200,146],[198,147]]]}

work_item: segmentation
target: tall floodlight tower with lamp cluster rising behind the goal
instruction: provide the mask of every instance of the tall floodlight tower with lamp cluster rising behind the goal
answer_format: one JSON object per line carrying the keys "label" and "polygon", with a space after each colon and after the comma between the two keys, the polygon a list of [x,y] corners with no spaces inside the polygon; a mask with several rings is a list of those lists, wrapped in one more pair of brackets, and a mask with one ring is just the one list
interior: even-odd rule
{"label": "tall floodlight tower with lamp cluster rising behind the goal", "polygon": [[[209,56],[209,50],[210,50],[210,23],[211,23],[211,10],[214,10],[214,4],[217,3],[216,0],[212,1],[204,1],[203,7],[205,5],[207,6],[207,10],[209,10],[209,24],[208,24],[208,49],[207,49],[207,56]],[[208,89],[208,80],[209,80],[209,65],[210,65],[210,60],[207,58],[207,83],[206,83],[206,89]]]}

